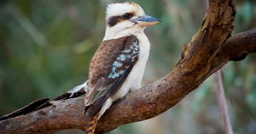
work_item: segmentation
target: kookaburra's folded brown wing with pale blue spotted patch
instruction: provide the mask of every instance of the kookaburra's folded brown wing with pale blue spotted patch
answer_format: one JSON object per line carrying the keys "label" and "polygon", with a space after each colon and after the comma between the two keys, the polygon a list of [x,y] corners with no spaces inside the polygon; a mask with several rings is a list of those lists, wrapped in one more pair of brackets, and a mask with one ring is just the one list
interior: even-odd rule
{"label": "kookaburra's folded brown wing with pale blue spotted patch", "polygon": [[95,109],[99,109],[106,98],[122,86],[138,59],[138,43],[136,36],[102,42],[90,63],[88,91],[84,98],[87,106],[97,101]]}

